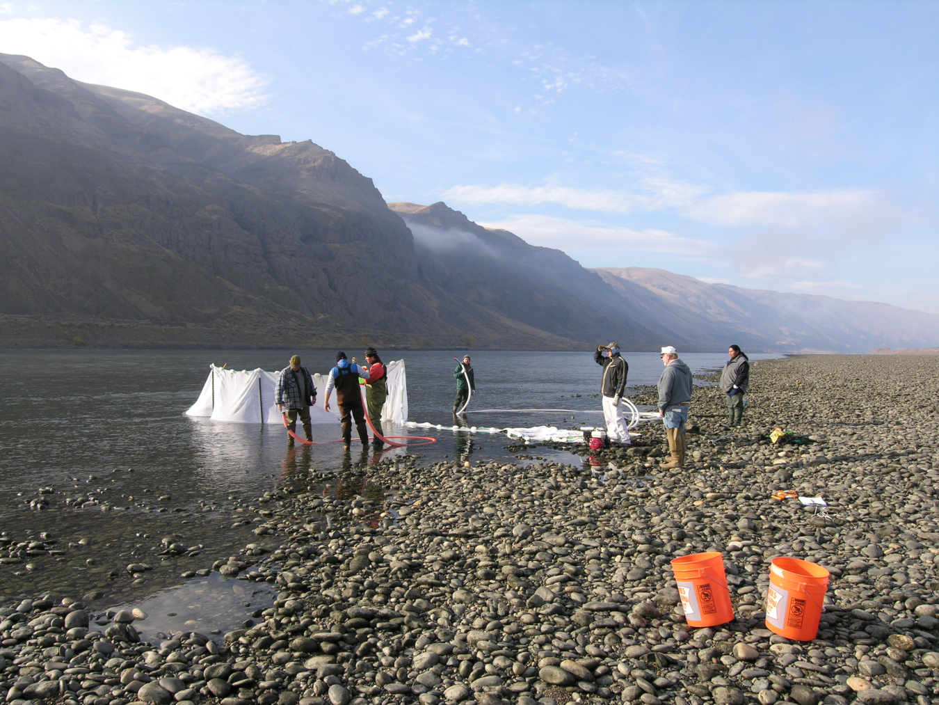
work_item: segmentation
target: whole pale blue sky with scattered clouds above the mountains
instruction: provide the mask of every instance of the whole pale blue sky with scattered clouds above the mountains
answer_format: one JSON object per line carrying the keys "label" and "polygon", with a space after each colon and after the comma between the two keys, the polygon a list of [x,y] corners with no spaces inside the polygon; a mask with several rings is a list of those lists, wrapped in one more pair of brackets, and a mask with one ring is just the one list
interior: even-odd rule
{"label": "whole pale blue sky with scattered clouds above the mountains", "polygon": [[0,52],[584,266],[939,313],[936,2],[14,1]]}

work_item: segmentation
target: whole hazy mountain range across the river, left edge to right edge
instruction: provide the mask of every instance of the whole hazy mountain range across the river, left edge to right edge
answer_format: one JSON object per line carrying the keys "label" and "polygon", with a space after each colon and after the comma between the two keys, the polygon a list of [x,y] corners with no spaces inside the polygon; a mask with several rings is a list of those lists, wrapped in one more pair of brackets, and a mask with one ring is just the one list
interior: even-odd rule
{"label": "whole hazy mountain range across the river, left edge to right edge", "polygon": [[868,352],[884,304],[587,270],[443,203],[386,204],[312,141],[244,135],[0,55],[0,344]]}

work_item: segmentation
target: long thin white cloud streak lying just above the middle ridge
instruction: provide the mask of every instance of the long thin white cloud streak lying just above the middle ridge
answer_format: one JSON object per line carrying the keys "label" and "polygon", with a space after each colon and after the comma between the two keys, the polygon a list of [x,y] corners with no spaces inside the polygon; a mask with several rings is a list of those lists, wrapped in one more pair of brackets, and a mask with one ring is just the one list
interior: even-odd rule
{"label": "long thin white cloud streak lying just above the middle ridge", "polygon": [[633,250],[702,258],[715,256],[723,250],[716,243],[685,238],[667,230],[633,230],[628,227],[579,223],[549,215],[513,215],[499,222],[480,225],[510,230],[528,243],[565,252]]}

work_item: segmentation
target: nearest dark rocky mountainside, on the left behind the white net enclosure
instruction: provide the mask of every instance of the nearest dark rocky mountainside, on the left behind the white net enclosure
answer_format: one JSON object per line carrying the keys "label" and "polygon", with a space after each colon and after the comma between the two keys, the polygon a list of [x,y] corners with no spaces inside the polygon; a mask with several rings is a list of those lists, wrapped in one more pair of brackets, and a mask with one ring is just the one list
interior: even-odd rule
{"label": "nearest dark rocky mountainside, on the left behind the white net enclosure", "polygon": [[0,55],[0,88],[0,315],[152,324],[167,341],[577,344],[422,280],[372,181],[312,142],[235,133],[25,56]]}

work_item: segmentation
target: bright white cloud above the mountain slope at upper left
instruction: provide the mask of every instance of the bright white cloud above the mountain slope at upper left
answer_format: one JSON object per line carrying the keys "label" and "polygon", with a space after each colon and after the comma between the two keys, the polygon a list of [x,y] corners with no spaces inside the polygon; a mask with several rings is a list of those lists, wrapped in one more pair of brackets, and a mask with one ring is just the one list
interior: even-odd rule
{"label": "bright white cloud above the mountain slope at upper left", "polygon": [[126,32],[101,24],[3,20],[0,47],[79,81],[139,91],[201,115],[254,108],[267,100],[267,81],[239,56],[206,47],[140,46]]}

